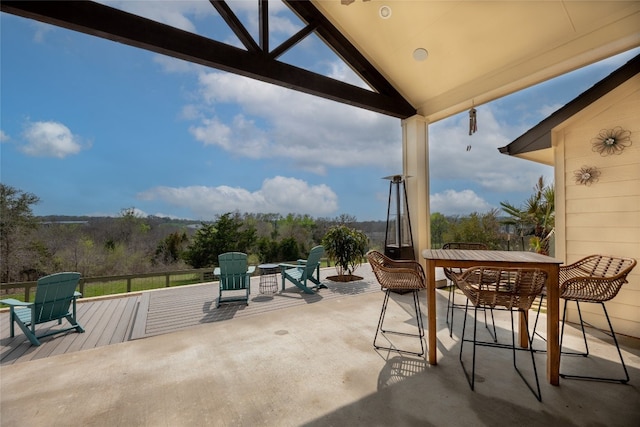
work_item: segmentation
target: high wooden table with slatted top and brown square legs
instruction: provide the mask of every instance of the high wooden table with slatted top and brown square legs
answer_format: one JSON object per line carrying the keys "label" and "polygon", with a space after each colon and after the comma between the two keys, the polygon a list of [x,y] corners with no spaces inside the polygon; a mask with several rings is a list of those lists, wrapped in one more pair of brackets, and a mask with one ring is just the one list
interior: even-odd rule
{"label": "high wooden table with slatted top and brown square legs", "polygon": [[[475,266],[495,266],[539,268],[547,273],[547,381],[559,384],[560,345],[558,323],[560,319],[559,273],[562,261],[535,252],[483,251],[462,249],[424,249],[422,257],[427,262],[427,324],[429,363],[436,365],[436,267],[469,268]],[[520,331],[527,328],[527,314],[520,316]],[[527,334],[520,333],[520,345],[527,347]]]}

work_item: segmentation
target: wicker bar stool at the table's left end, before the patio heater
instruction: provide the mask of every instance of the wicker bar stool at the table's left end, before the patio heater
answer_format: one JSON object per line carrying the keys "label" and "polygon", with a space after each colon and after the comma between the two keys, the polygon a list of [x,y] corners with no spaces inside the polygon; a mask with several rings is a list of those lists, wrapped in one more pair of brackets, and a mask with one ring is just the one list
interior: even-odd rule
{"label": "wicker bar stool at the table's left end, before the patio heater", "polygon": [[[384,301],[382,302],[382,309],[380,310],[380,318],[378,319],[378,327],[373,339],[373,346],[376,349],[422,356],[424,354],[424,324],[422,321],[422,312],[420,311],[420,300],[418,298],[418,292],[421,289],[426,288],[426,280],[422,266],[415,261],[392,260],[377,251],[367,252],[367,259],[369,260],[369,264],[373,269],[373,273],[375,274],[378,283],[380,283],[380,286],[384,291]],[[412,293],[413,306],[416,313],[416,323],[418,326],[417,334],[384,329],[384,317],[389,303],[389,294],[394,290],[410,291]],[[378,333],[380,332],[382,334],[416,337],[420,340],[420,351],[408,351],[397,347],[385,347],[378,345]]]}

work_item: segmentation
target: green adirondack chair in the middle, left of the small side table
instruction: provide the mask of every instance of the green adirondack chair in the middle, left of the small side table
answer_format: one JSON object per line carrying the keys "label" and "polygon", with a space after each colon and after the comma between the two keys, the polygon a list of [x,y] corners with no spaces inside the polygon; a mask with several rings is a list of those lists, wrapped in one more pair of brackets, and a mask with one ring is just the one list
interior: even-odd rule
{"label": "green adirondack chair in the middle, left of the small side table", "polygon": [[[251,275],[256,270],[255,266],[247,268],[247,254],[242,252],[226,252],[218,255],[218,264],[213,270],[213,274],[220,278],[220,291],[216,307],[220,307],[223,302],[244,301],[249,305],[249,295],[251,294]],[[242,291],[245,295],[222,298],[224,291]],[[235,292],[237,294],[237,292]]]}

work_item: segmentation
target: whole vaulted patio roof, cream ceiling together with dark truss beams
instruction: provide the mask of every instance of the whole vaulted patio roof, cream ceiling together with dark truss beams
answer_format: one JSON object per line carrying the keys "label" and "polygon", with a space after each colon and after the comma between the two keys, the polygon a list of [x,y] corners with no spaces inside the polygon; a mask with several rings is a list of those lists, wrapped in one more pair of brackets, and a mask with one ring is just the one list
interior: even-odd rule
{"label": "whole vaulted patio roof, cream ceiling together with dark truss beams", "polygon": [[[305,27],[280,46],[268,45],[268,2],[257,1],[259,40],[243,32],[225,2],[210,1],[244,49],[94,2],[2,1],[0,8],[394,117],[418,113],[430,121],[640,46],[638,1],[283,0]],[[372,90],[278,61],[311,32]]]}

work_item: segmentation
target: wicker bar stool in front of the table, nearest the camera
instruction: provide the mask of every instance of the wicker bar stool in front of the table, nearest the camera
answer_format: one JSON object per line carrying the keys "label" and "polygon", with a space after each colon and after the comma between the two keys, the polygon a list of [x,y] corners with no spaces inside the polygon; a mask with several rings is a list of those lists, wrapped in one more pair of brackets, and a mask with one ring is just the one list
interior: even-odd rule
{"label": "wicker bar stool in front of the table, nearest the camera", "polygon": [[[464,324],[462,327],[462,338],[460,340],[460,364],[467,377],[467,381],[471,386],[471,390],[475,386],[476,374],[476,346],[509,348],[513,352],[513,367],[520,378],[527,385],[529,390],[536,396],[538,401],[542,401],[540,393],[540,382],[538,380],[538,370],[534,352],[529,346],[531,354],[531,362],[533,363],[533,372],[536,379],[536,389],[529,384],[524,375],[518,369],[516,364],[516,350],[527,350],[516,348],[516,338],[514,332],[514,312],[527,312],[531,308],[531,304],[536,299],[542,287],[544,286],[547,275],[544,271],[537,268],[500,268],[500,267],[472,267],[464,271],[460,275],[454,276],[458,288],[467,296],[467,304],[464,312]],[[473,321],[473,339],[465,338],[467,325],[467,314],[469,311],[469,303],[474,307]],[[478,309],[495,309],[507,310],[511,314],[511,345],[499,344],[489,341],[478,341],[477,339],[477,323]],[[528,329],[525,329],[528,337]],[[464,343],[473,342],[472,370],[471,377],[464,366],[462,360]]]}

